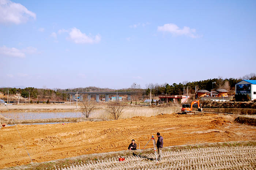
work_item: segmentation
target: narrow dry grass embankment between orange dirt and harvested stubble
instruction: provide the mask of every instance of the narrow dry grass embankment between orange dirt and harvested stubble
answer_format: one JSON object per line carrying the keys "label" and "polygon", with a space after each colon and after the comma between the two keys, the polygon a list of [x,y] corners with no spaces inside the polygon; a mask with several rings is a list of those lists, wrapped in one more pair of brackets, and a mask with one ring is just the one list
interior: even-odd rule
{"label": "narrow dry grass embankment between orange dirt and harvested stubble", "polygon": [[[193,145],[181,145],[181,146],[171,146],[163,147],[163,152],[165,151],[180,151],[194,148],[206,148],[206,147],[225,147],[225,146],[256,146],[256,141],[231,141],[231,142],[217,142],[217,143],[204,143],[204,144],[193,144]],[[54,161],[42,162],[42,163],[33,163],[29,165],[10,167],[4,170],[54,170],[61,169],[65,167],[71,167],[73,165],[81,165],[94,161],[100,161],[105,158],[118,158],[121,156],[129,156],[139,154],[140,150],[136,151],[117,151],[117,152],[106,152],[99,154],[89,154],[76,156],[66,159],[58,159]],[[152,148],[145,149],[141,155],[153,153]]]}

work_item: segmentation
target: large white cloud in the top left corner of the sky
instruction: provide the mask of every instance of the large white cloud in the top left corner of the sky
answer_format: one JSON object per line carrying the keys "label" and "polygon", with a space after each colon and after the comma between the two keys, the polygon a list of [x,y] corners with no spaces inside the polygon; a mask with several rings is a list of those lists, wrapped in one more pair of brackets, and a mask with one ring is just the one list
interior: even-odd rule
{"label": "large white cloud in the top left corner of the sky", "polygon": [[36,14],[27,10],[22,4],[10,0],[0,0],[0,23],[25,23],[29,18],[36,18]]}

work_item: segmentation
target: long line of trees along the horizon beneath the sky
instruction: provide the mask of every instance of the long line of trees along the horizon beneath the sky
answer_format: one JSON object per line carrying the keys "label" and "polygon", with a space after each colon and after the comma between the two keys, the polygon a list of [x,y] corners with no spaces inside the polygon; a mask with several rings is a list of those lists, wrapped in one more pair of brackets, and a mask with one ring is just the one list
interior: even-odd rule
{"label": "long line of trees along the horizon beneath the sky", "polygon": [[[69,95],[64,92],[100,92],[100,91],[131,91],[131,92],[140,92],[141,94],[146,94],[147,96],[150,94],[152,96],[169,94],[169,95],[183,95],[185,91],[185,95],[187,95],[187,88],[188,88],[188,95],[194,95],[195,90],[212,90],[223,88],[228,91],[233,91],[231,94],[234,94],[235,85],[240,82],[241,80],[256,80],[256,74],[251,73],[245,75],[241,78],[214,78],[214,79],[207,79],[207,80],[200,80],[194,82],[184,81],[182,83],[173,83],[172,85],[168,83],[158,84],[158,83],[150,83],[146,84],[146,88],[142,88],[140,84],[133,83],[130,88],[123,88],[123,89],[110,89],[110,88],[99,88],[99,87],[79,87],[79,88],[67,88],[67,89],[60,89],[60,88],[53,88],[53,89],[44,89],[44,88],[34,88],[34,87],[26,87],[22,88],[0,88],[0,91],[3,92],[4,95],[7,94],[9,90],[9,94],[20,94],[22,97],[25,98],[34,98],[34,99],[51,99],[55,101],[65,101],[69,98]],[[215,82],[215,83],[214,83]],[[212,84],[214,83],[214,84]],[[185,90],[184,90],[185,89]]]}

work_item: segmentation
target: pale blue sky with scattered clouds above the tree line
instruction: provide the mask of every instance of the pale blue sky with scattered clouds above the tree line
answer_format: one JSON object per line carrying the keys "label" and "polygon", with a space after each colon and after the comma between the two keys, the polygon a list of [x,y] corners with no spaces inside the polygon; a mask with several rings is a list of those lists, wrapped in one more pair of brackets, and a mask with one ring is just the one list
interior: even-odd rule
{"label": "pale blue sky with scattered clouds above the tree line", "polygon": [[256,1],[0,0],[0,87],[127,88],[256,72]]}

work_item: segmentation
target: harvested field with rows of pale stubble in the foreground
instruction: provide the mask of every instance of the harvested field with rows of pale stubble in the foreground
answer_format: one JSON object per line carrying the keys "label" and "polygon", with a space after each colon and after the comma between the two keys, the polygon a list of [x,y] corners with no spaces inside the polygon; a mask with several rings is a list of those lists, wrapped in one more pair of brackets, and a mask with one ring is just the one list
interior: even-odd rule
{"label": "harvested field with rows of pale stubble in the foreground", "polygon": [[[144,158],[126,156],[124,162],[118,162],[118,157],[91,161],[67,170],[255,170],[256,146],[229,146],[195,148],[179,151],[165,151],[159,164],[147,158],[154,154],[143,155]],[[147,157],[147,158],[145,158]]]}

